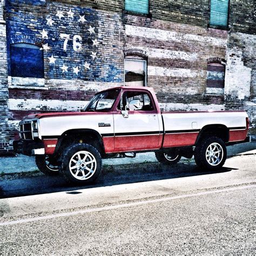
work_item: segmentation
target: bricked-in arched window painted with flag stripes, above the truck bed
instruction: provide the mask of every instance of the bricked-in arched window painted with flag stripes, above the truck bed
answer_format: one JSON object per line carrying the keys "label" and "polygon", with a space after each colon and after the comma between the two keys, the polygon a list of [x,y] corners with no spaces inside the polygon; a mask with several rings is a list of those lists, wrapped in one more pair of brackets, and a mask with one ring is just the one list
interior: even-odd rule
{"label": "bricked-in arched window painted with flag stripes, above the truck bed", "polygon": [[207,65],[207,93],[224,93],[225,65],[208,63]]}

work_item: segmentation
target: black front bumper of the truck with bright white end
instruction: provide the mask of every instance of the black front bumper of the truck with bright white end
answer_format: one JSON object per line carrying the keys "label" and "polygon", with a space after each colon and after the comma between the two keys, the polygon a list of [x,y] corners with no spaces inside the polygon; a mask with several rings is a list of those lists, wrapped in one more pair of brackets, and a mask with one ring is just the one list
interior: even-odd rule
{"label": "black front bumper of the truck with bright white end", "polygon": [[19,154],[25,154],[26,156],[35,156],[36,154],[44,154],[44,144],[41,140],[15,140],[12,144],[14,152]]}

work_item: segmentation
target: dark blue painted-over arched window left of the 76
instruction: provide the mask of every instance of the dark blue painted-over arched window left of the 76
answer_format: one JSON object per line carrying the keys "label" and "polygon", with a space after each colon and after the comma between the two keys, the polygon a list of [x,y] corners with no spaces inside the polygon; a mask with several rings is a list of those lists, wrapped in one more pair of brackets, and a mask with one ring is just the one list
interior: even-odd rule
{"label": "dark blue painted-over arched window left of the 76", "polygon": [[18,43],[11,45],[12,77],[44,77],[44,55],[39,46]]}

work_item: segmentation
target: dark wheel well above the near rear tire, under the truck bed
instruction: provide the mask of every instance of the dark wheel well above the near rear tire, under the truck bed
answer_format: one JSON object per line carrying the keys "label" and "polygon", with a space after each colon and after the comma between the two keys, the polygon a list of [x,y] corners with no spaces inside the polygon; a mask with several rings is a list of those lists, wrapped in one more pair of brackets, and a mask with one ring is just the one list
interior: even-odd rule
{"label": "dark wheel well above the near rear tire, under the truck bed", "polygon": [[225,125],[206,125],[199,132],[196,140],[196,145],[205,138],[209,138],[210,136],[218,137],[222,139],[225,143],[227,143],[230,138],[229,131]]}

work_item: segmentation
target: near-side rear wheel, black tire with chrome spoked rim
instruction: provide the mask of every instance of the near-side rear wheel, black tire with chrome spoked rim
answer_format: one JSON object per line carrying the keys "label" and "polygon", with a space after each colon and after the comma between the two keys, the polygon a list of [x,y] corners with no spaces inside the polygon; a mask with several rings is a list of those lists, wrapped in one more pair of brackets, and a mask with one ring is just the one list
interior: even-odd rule
{"label": "near-side rear wheel, black tire with chrome spoked rim", "polygon": [[220,169],[227,159],[226,145],[218,137],[210,137],[196,146],[194,160],[201,168]]}

